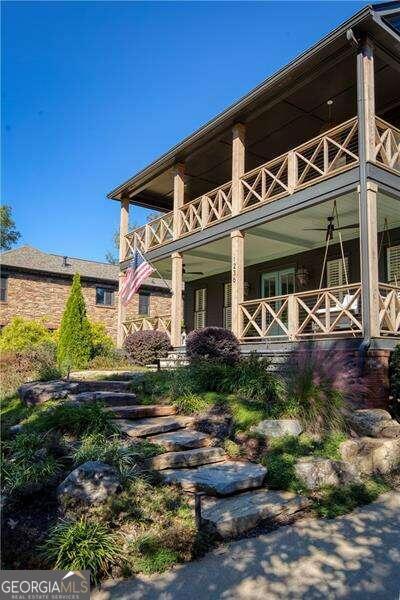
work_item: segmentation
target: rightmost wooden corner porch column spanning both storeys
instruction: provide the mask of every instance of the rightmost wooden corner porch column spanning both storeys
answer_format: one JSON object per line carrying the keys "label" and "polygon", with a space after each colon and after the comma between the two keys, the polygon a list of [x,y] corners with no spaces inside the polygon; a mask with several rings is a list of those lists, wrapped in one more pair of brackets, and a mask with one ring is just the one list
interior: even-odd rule
{"label": "rightmost wooden corner porch column spanning both storeys", "polygon": [[367,162],[375,153],[374,52],[367,38],[357,54],[358,145],[360,157],[359,218],[363,331],[365,339],[378,337],[378,225],[377,186],[367,180]]}

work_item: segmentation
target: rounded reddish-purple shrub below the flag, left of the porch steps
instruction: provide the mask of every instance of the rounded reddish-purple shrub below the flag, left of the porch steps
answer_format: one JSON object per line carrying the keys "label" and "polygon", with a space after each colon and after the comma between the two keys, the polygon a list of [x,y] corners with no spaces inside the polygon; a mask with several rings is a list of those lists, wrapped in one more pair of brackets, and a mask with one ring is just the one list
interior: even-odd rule
{"label": "rounded reddish-purple shrub below the flag, left of the porch steps", "polygon": [[125,338],[124,348],[134,364],[149,365],[168,355],[171,342],[165,331],[134,331]]}

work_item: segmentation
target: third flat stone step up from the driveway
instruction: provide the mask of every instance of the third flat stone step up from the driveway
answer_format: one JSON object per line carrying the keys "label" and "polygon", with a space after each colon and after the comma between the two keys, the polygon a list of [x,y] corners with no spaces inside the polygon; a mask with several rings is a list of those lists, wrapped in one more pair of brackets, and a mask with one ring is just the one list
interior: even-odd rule
{"label": "third flat stone step up from the driveway", "polygon": [[149,466],[156,471],[164,469],[182,469],[187,467],[198,467],[226,460],[223,448],[195,448],[193,450],[181,450],[179,452],[166,452],[159,454],[149,461]]}

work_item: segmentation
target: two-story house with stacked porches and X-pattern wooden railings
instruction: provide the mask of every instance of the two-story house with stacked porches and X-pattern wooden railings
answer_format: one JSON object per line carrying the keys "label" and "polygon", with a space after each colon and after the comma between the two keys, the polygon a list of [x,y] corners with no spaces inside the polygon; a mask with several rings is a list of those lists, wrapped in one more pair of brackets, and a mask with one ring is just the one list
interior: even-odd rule
{"label": "two-story house with stacked porches and X-pattern wooden railings", "polygon": [[[397,1],[366,6],[114,189],[122,273],[137,247],[172,280],[172,345],[182,324],[217,325],[244,351],[351,338],[387,363],[399,126]],[[165,214],[128,231],[131,205]]]}

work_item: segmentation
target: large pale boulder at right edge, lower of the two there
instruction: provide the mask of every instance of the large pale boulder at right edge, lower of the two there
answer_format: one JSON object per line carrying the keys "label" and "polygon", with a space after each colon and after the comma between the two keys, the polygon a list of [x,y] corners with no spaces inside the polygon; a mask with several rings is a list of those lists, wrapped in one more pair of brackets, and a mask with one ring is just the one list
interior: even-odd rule
{"label": "large pale boulder at right edge, lower of the two there", "polygon": [[340,455],[359,473],[390,473],[400,465],[400,438],[354,438],[340,444]]}

